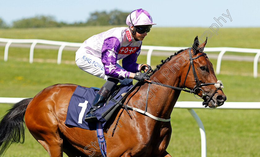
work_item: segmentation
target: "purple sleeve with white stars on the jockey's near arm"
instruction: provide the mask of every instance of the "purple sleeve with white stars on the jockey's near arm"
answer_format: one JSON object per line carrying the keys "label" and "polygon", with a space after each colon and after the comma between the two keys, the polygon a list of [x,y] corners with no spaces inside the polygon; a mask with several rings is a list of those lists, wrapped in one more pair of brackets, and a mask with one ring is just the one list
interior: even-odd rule
{"label": "purple sleeve with white stars on the jockey's near arm", "polygon": [[101,61],[104,64],[105,74],[113,78],[129,78],[130,72],[116,66],[120,42],[116,37],[108,37],[102,46]]}

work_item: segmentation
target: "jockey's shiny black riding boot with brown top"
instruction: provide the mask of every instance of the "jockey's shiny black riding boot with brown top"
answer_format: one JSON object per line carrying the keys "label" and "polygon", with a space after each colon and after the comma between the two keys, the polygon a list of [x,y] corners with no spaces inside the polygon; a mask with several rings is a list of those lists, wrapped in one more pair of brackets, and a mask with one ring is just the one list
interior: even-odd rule
{"label": "jockey's shiny black riding boot with brown top", "polygon": [[107,79],[106,83],[98,91],[89,112],[85,116],[86,122],[98,121],[97,117],[94,115],[94,112],[105,104],[106,99],[109,97],[111,91],[114,91],[114,88],[118,82],[119,80],[115,78]]}

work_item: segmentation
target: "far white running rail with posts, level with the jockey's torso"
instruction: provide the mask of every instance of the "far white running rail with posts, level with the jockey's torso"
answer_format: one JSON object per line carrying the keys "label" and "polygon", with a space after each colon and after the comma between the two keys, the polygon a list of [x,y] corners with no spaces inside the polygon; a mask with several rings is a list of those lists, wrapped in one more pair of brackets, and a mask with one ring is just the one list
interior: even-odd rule
{"label": "far white running rail with posts, level with the jockey's torso", "polygon": [[[5,46],[4,52],[4,61],[7,61],[8,58],[8,49],[11,43],[32,43],[30,48],[30,58],[29,62],[33,63],[33,50],[36,44],[47,44],[47,45],[59,45],[58,58],[57,63],[61,63],[61,55],[65,46],[70,47],[80,47],[82,43],[71,43],[71,42],[63,42],[63,41],[52,41],[52,40],[40,40],[40,39],[6,39],[0,38],[0,42],[7,43]],[[147,61],[148,65],[151,65],[151,55],[153,50],[159,51],[179,51],[180,49],[184,49],[183,47],[166,47],[166,46],[147,46],[142,45],[142,50],[148,50]],[[260,57],[260,49],[247,49],[247,48],[232,48],[232,47],[211,47],[205,48],[204,52],[220,52],[217,60],[217,68],[216,74],[220,72],[221,60],[225,52],[240,52],[240,53],[256,53],[253,61],[253,76],[257,78],[257,66],[258,66],[258,58]]]}

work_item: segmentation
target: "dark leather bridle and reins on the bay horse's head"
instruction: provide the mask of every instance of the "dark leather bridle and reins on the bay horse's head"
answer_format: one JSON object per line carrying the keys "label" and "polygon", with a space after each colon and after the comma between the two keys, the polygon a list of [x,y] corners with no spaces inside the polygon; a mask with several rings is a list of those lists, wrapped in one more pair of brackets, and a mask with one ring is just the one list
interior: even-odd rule
{"label": "dark leather bridle and reins on the bay horse's head", "polygon": [[[196,70],[195,70],[195,67],[194,67],[194,64],[193,64],[193,60],[194,60],[194,59],[197,59],[197,58],[199,58],[199,57],[201,57],[201,56],[205,56],[205,55],[207,55],[207,54],[206,54],[206,53],[202,53],[202,54],[200,54],[200,55],[198,55],[198,56],[196,56],[196,57],[192,57],[191,49],[192,49],[192,48],[188,48],[188,54],[189,54],[189,61],[190,61],[190,63],[189,63],[189,68],[188,68],[187,74],[186,74],[185,79],[184,79],[183,88],[174,87],[174,86],[170,86],[170,85],[167,85],[167,84],[162,84],[162,83],[158,83],[158,82],[154,82],[154,81],[150,81],[150,80],[147,80],[147,82],[148,82],[148,83],[157,84],[157,85],[160,85],[160,86],[164,86],[164,87],[169,87],[169,88],[176,89],[176,90],[185,91],[185,92],[188,92],[188,93],[193,93],[194,96],[195,96],[195,93],[196,93],[196,92],[198,92],[199,90],[201,90],[201,91],[203,92],[202,97],[198,98],[198,97],[195,96],[195,98],[197,98],[197,99],[201,99],[201,98],[203,98],[204,96],[208,96],[208,95],[206,95],[206,94],[204,93],[204,91],[203,91],[200,87],[202,87],[202,86],[207,86],[207,85],[213,85],[213,84],[214,84],[215,87],[216,87],[216,90],[212,93],[212,95],[209,96],[210,98],[209,98],[206,102],[204,101],[204,102],[202,103],[203,105],[205,105],[205,107],[207,107],[208,104],[209,104],[209,102],[210,102],[210,100],[211,100],[211,99],[213,98],[213,96],[215,95],[215,93],[216,93],[219,89],[221,89],[221,87],[223,88],[223,86],[222,86],[221,81],[218,81],[218,82],[220,82],[220,83],[219,83],[219,86],[216,86],[216,84],[218,84],[218,83],[201,83],[201,80],[198,79],[198,76],[197,76],[197,73],[196,73]],[[196,85],[193,87],[192,90],[185,89],[185,87],[184,87],[190,69],[192,69],[193,76],[194,76],[194,80],[195,80],[195,83],[196,83]]]}

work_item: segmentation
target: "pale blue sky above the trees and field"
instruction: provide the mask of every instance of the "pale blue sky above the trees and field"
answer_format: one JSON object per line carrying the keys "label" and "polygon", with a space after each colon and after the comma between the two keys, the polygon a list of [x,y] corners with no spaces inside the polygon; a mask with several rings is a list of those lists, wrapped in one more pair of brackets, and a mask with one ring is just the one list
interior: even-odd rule
{"label": "pale blue sky above the trees and field", "polygon": [[74,23],[86,22],[95,11],[117,9],[130,13],[142,8],[157,23],[153,27],[214,27],[214,23],[222,24],[219,27],[260,27],[259,4],[258,0],[1,0],[0,18],[11,24],[23,18],[50,15],[58,22]]}

